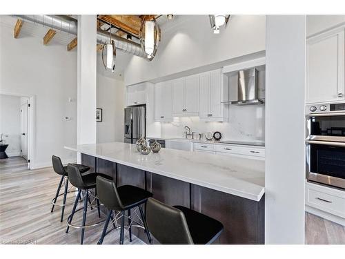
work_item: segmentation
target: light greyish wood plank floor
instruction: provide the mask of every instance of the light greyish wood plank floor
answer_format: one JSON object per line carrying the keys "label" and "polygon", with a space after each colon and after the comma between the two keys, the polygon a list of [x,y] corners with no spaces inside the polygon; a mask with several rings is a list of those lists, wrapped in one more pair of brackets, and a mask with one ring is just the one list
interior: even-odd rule
{"label": "light greyish wood plank floor", "polygon": [[[0,160],[0,244],[79,244],[80,229],[65,233],[72,206],[66,207],[64,222],[60,222],[61,207],[50,213],[50,201],[59,180],[52,168],[28,170],[26,160],[21,157]],[[72,203],[74,198],[69,193],[67,202]],[[81,214],[77,213],[73,222],[81,222]],[[88,210],[86,224],[98,220],[97,210]],[[84,244],[97,244],[102,227],[86,229]],[[118,243],[119,233],[115,230],[103,241],[103,244]],[[127,235],[125,244],[128,243]],[[144,242],[134,236],[132,244]],[[345,227],[306,213],[306,244],[345,244]]]}

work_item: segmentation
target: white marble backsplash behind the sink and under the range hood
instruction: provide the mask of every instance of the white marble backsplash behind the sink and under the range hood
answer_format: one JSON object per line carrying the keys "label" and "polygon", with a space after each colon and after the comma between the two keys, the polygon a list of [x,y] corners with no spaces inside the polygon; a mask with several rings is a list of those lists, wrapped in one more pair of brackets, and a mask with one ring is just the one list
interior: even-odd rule
{"label": "white marble backsplash behind the sink and under the range hood", "polygon": [[191,131],[206,133],[219,131],[221,140],[264,141],[265,106],[264,104],[226,107],[228,119],[224,122],[202,122],[199,117],[175,117],[174,122],[161,123],[161,137],[184,137],[184,126]]}

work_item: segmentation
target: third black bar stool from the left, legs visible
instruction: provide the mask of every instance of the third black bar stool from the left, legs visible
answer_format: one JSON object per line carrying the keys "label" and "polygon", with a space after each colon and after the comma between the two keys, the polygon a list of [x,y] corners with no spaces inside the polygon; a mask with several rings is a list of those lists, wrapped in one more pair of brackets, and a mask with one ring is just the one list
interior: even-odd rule
{"label": "third black bar stool from the left, legs visible", "polygon": [[[108,228],[108,224],[110,218],[112,218],[112,211],[119,211],[121,214],[121,229],[120,229],[120,244],[124,244],[124,227],[125,227],[125,218],[128,218],[128,233],[130,242],[132,241],[132,222],[136,222],[132,216],[130,215],[131,209],[139,209],[140,212],[140,220],[141,222],[136,222],[141,227],[144,227],[146,232],[146,236],[148,238],[148,242],[151,243],[151,236],[148,231],[148,227],[146,224],[146,218],[144,215],[144,211],[141,208],[141,204],[146,204],[148,198],[152,197],[152,193],[141,189],[137,186],[132,185],[123,185],[116,187],[115,182],[103,178],[101,176],[97,176],[97,190],[99,195],[99,200],[102,204],[109,210],[108,218],[106,219],[106,223],[103,227],[103,232],[101,234],[101,238],[99,239],[97,244],[102,244],[104,237],[106,236],[106,231]],[[127,211],[127,216],[126,216]],[[138,215],[139,216],[139,215]],[[115,219],[112,222],[117,222],[119,219],[115,215]],[[141,225],[142,224],[142,225]]]}

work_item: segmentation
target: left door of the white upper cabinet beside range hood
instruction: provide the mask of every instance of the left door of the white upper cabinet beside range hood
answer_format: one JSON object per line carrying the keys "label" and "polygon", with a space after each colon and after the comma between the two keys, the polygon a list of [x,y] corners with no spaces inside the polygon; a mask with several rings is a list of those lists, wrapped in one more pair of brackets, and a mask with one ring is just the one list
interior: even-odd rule
{"label": "left door of the white upper cabinet beside range hood", "polygon": [[199,117],[210,117],[210,73],[199,75]]}

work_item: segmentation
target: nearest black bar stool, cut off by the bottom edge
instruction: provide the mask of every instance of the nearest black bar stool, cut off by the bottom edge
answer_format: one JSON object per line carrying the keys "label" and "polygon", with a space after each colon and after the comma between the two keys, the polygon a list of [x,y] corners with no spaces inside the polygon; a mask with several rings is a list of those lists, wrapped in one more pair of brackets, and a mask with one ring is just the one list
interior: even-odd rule
{"label": "nearest black bar stool, cut off by the bottom edge", "polygon": [[211,244],[221,231],[221,222],[183,206],[170,207],[149,198],[148,229],[161,244]]}

